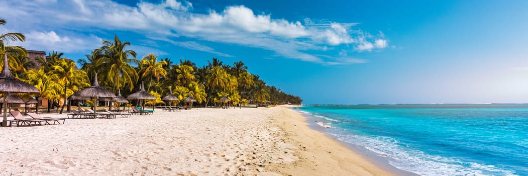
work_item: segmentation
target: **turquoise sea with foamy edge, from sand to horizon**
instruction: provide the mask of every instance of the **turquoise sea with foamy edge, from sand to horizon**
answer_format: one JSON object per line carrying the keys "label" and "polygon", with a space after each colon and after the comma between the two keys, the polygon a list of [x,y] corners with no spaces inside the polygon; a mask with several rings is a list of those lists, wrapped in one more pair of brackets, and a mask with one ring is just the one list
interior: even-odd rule
{"label": "turquoise sea with foamy edge, from sand to horizon", "polygon": [[528,105],[295,108],[324,132],[420,175],[528,175]]}

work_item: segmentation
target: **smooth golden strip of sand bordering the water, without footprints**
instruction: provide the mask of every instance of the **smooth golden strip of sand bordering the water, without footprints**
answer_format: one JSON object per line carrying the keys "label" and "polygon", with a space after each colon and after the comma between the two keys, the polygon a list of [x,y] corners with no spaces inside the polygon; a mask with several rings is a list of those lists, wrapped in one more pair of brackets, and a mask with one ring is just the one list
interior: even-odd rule
{"label": "smooth golden strip of sand bordering the water, without footprints", "polygon": [[[310,128],[308,118],[300,112],[280,106],[281,116],[273,123],[285,134],[285,143],[294,144],[298,160],[272,163],[267,170],[282,175],[403,175],[400,172],[371,161],[331,136]],[[394,168],[396,169],[396,168]]]}

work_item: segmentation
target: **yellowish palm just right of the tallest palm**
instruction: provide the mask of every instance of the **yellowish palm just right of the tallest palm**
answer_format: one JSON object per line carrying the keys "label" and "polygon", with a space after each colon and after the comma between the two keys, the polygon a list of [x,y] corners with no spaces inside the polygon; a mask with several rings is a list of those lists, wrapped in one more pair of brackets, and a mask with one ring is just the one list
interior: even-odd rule
{"label": "yellowish palm just right of the tallest palm", "polygon": [[150,86],[152,86],[152,80],[154,78],[156,78],[156,81],[159,81],[159,77],[165,77],[167,75],[167,71],[163,68],[167,62],[157,60],[158,56],[154,55],[153,53],[145,55],[141,60],[142,70],[140,72],[143,72],[142,77],[149,77],[150,79],[147,91],[150,90]]}

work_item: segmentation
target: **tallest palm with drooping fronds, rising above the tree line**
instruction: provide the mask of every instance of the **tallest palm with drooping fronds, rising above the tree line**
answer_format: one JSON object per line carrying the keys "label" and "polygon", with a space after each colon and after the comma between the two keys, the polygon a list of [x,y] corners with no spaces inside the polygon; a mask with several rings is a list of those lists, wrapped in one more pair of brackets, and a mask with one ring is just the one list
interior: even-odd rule
{"label": "tallest palm with drooping fronds, rising above the tree line", "polygon": [[[103,41],[102,47],[98,49],[103,54],[97,62],[97,66],[101,66],[101,71],[106,73],[108,82],[117,83],[112,85],[112,91],[116,92],[120,88],[120,80],[125,84],[130,85],[130,91],[134,89],[134,82],[138,80],[139,76],[130,64],[139,64],[136,58],[136,52],[133,50],[125,50],[130,45],[130,42],[121,42],[117,35],[114,36],[114,41]],[[129,56],[133,58],[129,58]]]}

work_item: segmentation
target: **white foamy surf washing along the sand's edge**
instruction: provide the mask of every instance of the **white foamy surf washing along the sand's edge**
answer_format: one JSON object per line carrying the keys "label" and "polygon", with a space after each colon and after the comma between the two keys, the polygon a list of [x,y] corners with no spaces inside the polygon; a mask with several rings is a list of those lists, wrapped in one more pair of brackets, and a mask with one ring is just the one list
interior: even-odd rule
{"label": "white foamy surf washing along the sand's edge", "polygon": [[342,129],[332,129],[328,134],[340,141],[350,143],[383,157],[395,168],[420,175],[516,175],[515,171],[497,168],[494,165],[463,162],[425,154],[421,151],[404,149],[405,145],[391,137],[367,137],[344,134]]}

